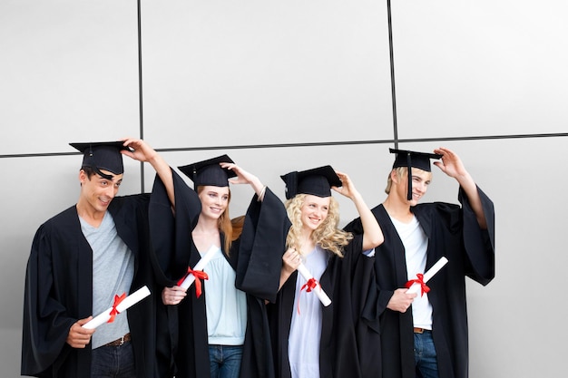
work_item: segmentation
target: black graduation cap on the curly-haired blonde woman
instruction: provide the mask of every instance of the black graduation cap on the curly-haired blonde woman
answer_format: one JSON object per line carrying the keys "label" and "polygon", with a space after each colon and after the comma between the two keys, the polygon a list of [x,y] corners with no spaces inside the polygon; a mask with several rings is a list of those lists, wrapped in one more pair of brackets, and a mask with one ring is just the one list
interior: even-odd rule
{"label": "black graduation cap on the curly-haired blonde woman", "polygon": [[289,172],[281,179],[286,183],[286,199],[291,199],[297,194],[312,194],[318,197],[331,196],[331,187],[340,187],[336,171],[331,166]]}

